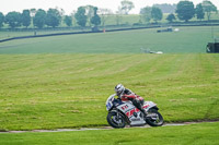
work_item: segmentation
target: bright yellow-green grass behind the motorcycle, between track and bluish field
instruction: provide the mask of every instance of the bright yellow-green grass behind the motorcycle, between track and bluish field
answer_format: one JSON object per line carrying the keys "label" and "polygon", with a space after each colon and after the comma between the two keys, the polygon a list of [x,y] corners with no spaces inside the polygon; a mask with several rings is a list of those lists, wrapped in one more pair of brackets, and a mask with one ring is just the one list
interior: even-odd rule
{"label": "bright yellow-green grass behind the motorcycle, between track and bluish field", "polygon": [[[41,49],[41,48],[39,48]],[[218,55],[1,55],[0,130],[106,125],[123,83],[166,122],[219,119]]]}

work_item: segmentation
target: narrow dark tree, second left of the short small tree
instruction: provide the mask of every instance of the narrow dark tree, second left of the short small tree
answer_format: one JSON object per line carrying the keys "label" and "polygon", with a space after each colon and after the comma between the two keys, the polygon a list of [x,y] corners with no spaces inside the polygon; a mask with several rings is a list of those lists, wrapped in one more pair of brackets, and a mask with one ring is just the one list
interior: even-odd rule
{"label": "narrow dark tree, second left of the short small tree", "polygon": [[38,9],[34,16],[34,26],[43,28],[46,22],[45,20],[46,20],[46,11]]}

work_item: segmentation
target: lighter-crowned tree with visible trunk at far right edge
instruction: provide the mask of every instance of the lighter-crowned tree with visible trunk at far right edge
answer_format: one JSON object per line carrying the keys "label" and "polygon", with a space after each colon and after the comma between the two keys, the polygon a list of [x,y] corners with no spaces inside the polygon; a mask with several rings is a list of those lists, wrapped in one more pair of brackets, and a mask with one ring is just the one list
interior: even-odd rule
{"label": "lighter-crowned tree with visible trunk at far right edge", "polygon": [[204,0],[201,5],[203,5],[204,11],[207,13],[207,17],[209,21],[211,12],[217,12],[217,7],[208,0]]}

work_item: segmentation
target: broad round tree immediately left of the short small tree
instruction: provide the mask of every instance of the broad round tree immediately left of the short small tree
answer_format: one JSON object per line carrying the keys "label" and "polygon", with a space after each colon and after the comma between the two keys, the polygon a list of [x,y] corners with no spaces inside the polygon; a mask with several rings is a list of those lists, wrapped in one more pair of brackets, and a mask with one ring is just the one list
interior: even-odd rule
{"label": "broad round tree immediately left of the short small tree", "polygon": [[46,25],[56,27],[61,22],[61,14],[57,9],[49,9],[46,14]]}

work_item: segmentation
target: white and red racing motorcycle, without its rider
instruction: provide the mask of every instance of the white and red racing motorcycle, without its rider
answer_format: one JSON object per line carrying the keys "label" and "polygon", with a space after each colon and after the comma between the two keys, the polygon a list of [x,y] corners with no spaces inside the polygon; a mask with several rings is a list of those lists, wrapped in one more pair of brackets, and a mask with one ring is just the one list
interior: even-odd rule
{"label": "white and red racing motorcycle, without its rider", "polygon": [[106,100],[106,117],[107,122],[113,128],[125,128],[126,124],[130,126],[140,126],[149,124],[151,126],[161,126],[163,124],[163,117],[158,111],[159,108],[152,101],[145,101],[143,109],[147,116],[136,108],[131,101],[122,101],[115,98],[115,94],[111,95]]}

